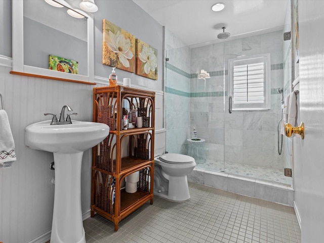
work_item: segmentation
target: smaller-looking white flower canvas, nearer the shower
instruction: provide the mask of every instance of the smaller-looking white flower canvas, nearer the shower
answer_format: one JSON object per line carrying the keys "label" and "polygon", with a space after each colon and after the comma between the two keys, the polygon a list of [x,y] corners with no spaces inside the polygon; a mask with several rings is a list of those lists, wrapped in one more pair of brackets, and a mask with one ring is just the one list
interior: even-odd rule
{"label": "smaller-looking white flower canvas, nearer the shower", "polygon": [[136,39],[136,74],[157,80],[157,50]]}

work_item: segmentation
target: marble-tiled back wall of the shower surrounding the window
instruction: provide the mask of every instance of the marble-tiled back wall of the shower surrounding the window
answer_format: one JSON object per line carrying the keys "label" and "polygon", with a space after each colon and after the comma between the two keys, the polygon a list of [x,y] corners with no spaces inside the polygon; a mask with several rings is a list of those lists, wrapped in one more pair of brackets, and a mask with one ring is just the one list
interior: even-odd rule
{"label": "marble-tiled back wall of the shower surrounding the window", "polygon": [[[209,158],[273,169],[284,168],[285,157],[277,153],[281,104],[280,95],[276,92],[284,85],[282,44],[282,32],[276,31],[232,41],[229,39],[224,44],[191,50],[191,126],[197,127],[198,137],[206,139],[206,155]],[[229,114],[227,98],[223,98],[223,92],[227,96],[228,59],[264,53],[271,54],[271,109],[233,111]],[[193,74],[200,69],[211,73],[211,78],[206,82]]]}

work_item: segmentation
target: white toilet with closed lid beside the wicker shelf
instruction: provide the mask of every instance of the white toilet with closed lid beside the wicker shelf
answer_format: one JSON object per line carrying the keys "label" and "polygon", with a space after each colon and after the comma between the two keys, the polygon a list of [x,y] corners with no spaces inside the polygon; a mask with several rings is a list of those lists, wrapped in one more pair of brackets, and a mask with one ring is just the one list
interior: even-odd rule
{"label": "white toilet with closed lid beside the wicker shelf", "polygon": [[196,166],[193,157],[165,153],[165,132],[155,133],[154,194],[172,201],[190,199],[187,175]]}

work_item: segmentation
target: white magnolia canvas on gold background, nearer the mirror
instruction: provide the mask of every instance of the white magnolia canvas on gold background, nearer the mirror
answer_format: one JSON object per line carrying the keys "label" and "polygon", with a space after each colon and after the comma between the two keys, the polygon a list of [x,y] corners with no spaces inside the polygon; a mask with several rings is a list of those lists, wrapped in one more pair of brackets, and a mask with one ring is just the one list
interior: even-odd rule
{"label": "white magnolia canvas on gold background, nearer the mirror", "polygon": [[106,19],[102,34],[102,64],[134,72],[135,36]]}

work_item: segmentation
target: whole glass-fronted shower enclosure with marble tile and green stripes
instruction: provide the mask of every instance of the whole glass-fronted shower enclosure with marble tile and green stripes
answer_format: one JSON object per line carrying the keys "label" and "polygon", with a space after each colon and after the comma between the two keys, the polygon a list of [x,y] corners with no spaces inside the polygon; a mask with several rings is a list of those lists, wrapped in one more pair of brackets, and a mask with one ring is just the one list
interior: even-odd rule
{"label": "whole glass-fronted shower enclosure with marble tile and green stripes", "polygon": [[[278,153],[282,106],[277,90],[286,95],[291,84],[290,46],[284,44],[282,31],[229,37],[166,53],[166,150],[195,157],[199,169],[291,185],[291,177],[284,175],[292,159],[285,136]],[[268,107],[229,111],[231,63],[260,55],[269,57],[264,98]],[[199,143],[190,141],[193,127]]]}

